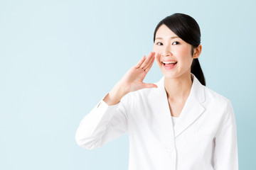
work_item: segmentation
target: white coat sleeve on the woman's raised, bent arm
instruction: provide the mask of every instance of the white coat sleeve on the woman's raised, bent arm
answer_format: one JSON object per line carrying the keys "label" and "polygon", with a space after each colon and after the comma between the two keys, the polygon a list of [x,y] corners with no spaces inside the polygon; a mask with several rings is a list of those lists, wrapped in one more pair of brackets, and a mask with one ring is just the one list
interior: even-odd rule
{"label": "white coat sleeve on the woman's raised, bent arm", "polygon": [[75,134],[78,145],[94,149],[127,132],[127,112],[122,99],[116,105],[108,106],[102,98],[85,115]]}

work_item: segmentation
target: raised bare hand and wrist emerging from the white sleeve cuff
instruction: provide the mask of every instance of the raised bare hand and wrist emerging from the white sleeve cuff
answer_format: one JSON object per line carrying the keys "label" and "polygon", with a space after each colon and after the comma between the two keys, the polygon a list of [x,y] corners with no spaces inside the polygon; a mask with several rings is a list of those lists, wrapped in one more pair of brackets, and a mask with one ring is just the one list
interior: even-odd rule
{"label": "raised bare hand and wrist emerging from the white sleeve cuff", "polygon": [[108,105],[114,105],[119,103],[121,98],[132,91],[137,91],[144,88],[157,87],[156,84],[146,84],[143,82],[146,74],[151,69],[154,63],[155,52],[149,52],[149,55],[145,58],[145,55],[137,64],[128,70],[124,77],[114,86],[114,88],[103,99]]}

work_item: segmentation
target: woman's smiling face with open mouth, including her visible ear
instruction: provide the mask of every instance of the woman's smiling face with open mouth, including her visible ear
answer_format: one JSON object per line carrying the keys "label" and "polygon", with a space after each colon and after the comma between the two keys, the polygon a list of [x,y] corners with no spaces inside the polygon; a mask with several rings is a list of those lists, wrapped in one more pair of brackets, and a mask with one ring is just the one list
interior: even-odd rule
{"label": "woman's smiling face with open mouth, including her visible ear", "polygon": [[162,25],[156,32],[153,52],[156,52],[155,61],[159,65],[164,77],[176,79],[189,76],[193,58],[192,45],[183,41],[166,25]]}

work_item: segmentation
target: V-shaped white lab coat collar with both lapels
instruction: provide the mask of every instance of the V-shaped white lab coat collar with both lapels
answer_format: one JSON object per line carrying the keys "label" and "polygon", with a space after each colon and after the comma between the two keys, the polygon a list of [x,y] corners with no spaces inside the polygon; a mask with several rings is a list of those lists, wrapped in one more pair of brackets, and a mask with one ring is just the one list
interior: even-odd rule
{"label": "V-shaped white lab coat collar with both lapels", "polygon": [[[167,99],[167,94],[164,88],[164,76],[156,83],[158,86],[157,94],[157,107],[159,113],[163,116],[163,123],[166,125],[166,133],[174,135],[177,137],[180,135],[186,128],[188,128],[201,114],[205,108],[201,105],[205,101],[205,91],[203,85],[198,81],[194,74],[191,73],[193,83],[191,86],[190,94],[186,100],[185,105],[181,111],[181,114],[178,117],[177,123],[174,126],[171,121],[171,113],[169,109],[169,103]],[[154,99],[156,100],[156,98]]]}

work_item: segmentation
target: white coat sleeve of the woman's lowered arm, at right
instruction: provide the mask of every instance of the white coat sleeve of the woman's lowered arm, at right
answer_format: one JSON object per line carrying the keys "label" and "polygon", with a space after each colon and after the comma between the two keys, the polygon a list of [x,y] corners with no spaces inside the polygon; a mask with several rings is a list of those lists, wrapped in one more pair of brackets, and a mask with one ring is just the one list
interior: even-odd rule
{"label": "white coat sleeve of the woman's lowered arm, at right", "polygon": [[233,106],[228,101],[222,122],[215,135],[215,170],[238,170],[237,129]]}

